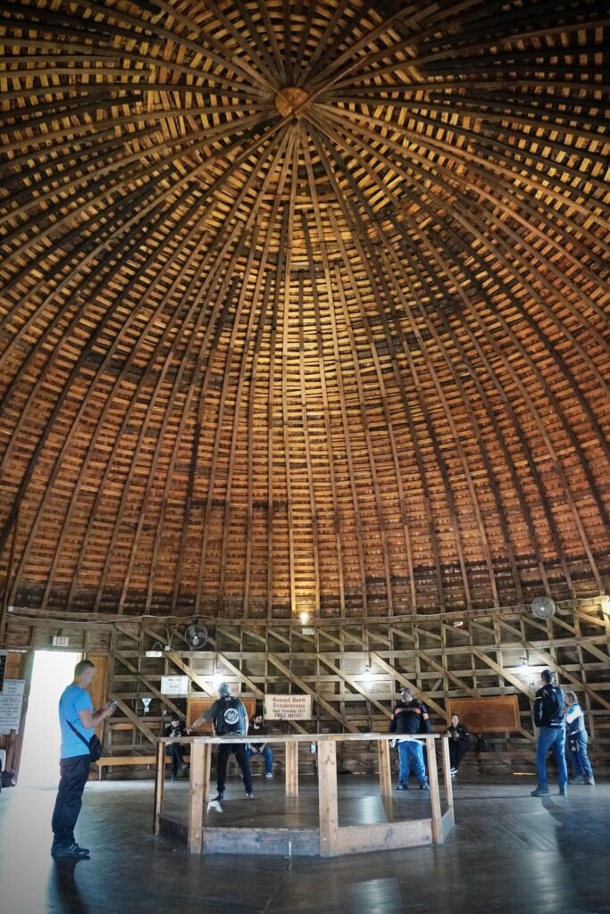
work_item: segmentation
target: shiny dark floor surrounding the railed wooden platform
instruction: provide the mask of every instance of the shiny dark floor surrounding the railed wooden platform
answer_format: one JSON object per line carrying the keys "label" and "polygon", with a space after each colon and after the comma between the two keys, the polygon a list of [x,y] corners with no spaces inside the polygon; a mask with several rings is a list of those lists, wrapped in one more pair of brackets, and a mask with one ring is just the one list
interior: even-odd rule
{"label": "shiny dark floor surrounding the railed wooden platform", "polygon": [[[283,788],[272,784],[256,779],[256,799],[247,802],[235,779],[228,797],[263,817]],[[530,778],[457,781],[455,832],[444,845],[322,861],[189,856],[151,834],[152,781],[91,781],[77,826],[91,860],[76,864],[49,856],[55,790],[11,788],[0,794],[0,911],[610,914],[610,783],[573,787],[567,800],[556,786],[533,799],[532,787]],[[353,807],[355,794],[364,799],[374,789],[348,775],[339,802],[343,794]],[[181,807],[186,781],[168,785],[168,798],[172,791]],[[397,802],[408,812],[421,800],[409,792]]]}

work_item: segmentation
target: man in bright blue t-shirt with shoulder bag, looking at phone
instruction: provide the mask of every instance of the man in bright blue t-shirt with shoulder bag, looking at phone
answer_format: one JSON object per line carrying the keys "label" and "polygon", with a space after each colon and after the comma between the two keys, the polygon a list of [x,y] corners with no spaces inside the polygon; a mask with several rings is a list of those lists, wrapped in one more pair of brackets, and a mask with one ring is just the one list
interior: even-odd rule
{"label": "man in bright blue t-shirt with shoulder bag, looking at phone", "polygon": [[[82,792],[89,778],[91,765],[91,755],[86,744],[93,736],[94,728],[106,717],[110,717],[115,707],[114,702],[109,702],[97,711],[93,710],[93,703],[87,689],[91,685],[94,674],[95,667],[91,660],[80,660],[74,667],[73,682],[63,690],[59,698],[60,777],[51,821],[53,829],[51,854],[54,857],[89,859],[89,850],[86,847],[80,847],[74,840],[74,827],[79,817]],[[72,728],[78,732],[75,733]]]}

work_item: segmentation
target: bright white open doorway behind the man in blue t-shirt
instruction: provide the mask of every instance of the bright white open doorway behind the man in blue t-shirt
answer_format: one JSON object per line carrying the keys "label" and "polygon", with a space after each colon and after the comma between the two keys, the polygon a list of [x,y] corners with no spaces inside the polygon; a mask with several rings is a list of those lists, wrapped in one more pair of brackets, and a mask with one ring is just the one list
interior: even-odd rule
{"label": "bright white open doorway behind the man in blue t-shirt", "polygon": [[37,651],[27,702],[18,784],[57,787],[59,783],[59,696],[74,678],[82,654]]}

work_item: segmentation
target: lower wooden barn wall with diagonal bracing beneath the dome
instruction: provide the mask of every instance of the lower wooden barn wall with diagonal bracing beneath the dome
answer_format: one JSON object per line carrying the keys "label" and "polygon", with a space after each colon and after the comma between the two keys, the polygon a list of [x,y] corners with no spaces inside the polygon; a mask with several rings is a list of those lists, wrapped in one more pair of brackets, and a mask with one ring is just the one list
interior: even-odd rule
{"label": "lower wooden barn wall with diagonal bracing beneath the dome", "polygon": [[[35,650],[48,649],[57,634],[69,635],[71,651],[107,657],[108,671],[102,677],[108,695],[119,702],[103,735],[109,756],[149,754],[152,739],[163,732],[169,716],[186,716],[185,698],[162,695],[163,675],[187,675],[191,692],[199,695],[213,694],[214,677],[221,675],[235,692],[259,702],[265,694],[309,692],[313,719],[273,721],[270,728],[277,733],[291,728],[385,732],[401,685],[412,685],[423,698],[436,732],[446,727],[451,699],[517,696],[519,729],[487,733],[487,753],[476,752],[473,739],[467,757],[471,771],[516,774],[533,772],[533,694],[540,670],[551,667],[560,683],[580,697],[594,767],[604,771],[610,762],[610,617],[599,601],[560,608],[543,621],[525,610],[382,622],[314,620],[306,625],[214,620],[199,651],[187,650],[186,628],[187,622],[176,619],[13,617],[6,638],[8,675],[27,678],[28,659]],[[161,649],[162,656],[146,656],[151,649]],[[142,698],[151,699],[147,713]],[[0,748],[11,746],[18,760],[18,736],[0,737]],[[347,743],[343,753],[344,771],[375,770],[373,744]],[[281,770],[282,751],[276,755]],[[134,770],[126,773],[131,776]]]}

